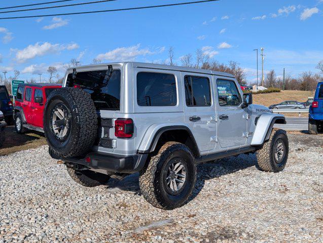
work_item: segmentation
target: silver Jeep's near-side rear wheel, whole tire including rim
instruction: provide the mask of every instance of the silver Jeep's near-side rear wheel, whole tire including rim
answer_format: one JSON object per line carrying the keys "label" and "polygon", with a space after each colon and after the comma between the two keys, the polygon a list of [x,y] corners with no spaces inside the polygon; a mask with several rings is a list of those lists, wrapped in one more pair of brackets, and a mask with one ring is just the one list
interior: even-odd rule
{"label": "silver Jeep's near-side rear wheel, whole tire including rim", "polygon": [[166,210],[183,206],[195,182],[194,156],[187,146],[177,142],[165,143],[139,176],[143,197],[154,207]]}

